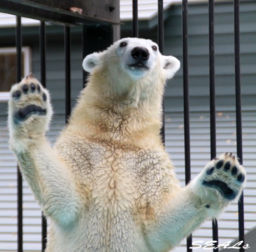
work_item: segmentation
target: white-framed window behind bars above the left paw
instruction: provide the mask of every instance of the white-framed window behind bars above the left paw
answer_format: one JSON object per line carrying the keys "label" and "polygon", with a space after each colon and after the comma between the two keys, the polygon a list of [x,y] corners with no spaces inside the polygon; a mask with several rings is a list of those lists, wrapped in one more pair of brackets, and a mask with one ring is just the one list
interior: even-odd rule
{"label": "white-framed window behind bars above the left paw", "polygon": [[[23,76],[30,73],[31,51],[24,47]],[[16,83],[16,48],[0,48],[0,102],[8,101],[12,84]]]}

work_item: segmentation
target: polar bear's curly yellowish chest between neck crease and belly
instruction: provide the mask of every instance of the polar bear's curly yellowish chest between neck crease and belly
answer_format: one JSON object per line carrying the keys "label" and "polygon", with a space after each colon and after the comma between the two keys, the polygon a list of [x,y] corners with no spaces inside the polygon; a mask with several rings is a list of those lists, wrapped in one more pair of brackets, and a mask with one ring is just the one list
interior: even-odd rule
{"label": "polar bear's curly yellowish chest between neck crease and belly", "polygon": [[99,207],[134,211],[148,202],[157,204],[169,190],[171,178],[161,151],[80,140],[69,145],[62,154],[81,193]]}

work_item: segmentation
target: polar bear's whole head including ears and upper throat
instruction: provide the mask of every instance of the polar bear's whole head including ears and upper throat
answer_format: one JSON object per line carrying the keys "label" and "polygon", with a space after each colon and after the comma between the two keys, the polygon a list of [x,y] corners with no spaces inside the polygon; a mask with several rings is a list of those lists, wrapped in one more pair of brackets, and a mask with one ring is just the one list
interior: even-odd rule
{"label": "polar bear's whole head including ears and upper throat", "polygon": [[105,97],[141,101],[152,94],[162,96],[164,84],[179,70],[180,61],[164,56],[150,39],[123,38],[103,52],[84,58],[89,84],[105,90]]}

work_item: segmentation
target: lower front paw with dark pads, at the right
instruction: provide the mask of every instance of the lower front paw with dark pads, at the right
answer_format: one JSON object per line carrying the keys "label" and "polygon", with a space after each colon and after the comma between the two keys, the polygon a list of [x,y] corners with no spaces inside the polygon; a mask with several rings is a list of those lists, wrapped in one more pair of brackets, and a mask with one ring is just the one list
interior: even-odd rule
{"label": "lower front paw with dark pads, at the right", "polygon": [[217,190],[229,200],[240,195],[245,181],[244,168],[230,152],[212,160],[202,175],[203,186]]}

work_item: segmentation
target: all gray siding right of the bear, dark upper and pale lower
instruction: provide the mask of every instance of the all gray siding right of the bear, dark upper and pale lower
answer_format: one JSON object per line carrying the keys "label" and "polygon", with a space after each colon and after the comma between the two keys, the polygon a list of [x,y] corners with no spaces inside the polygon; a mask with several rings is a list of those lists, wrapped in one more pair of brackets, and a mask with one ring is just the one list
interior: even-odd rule
{"label": "all gray siding right of the bear, dark upper and pale lower", "polygon": [[[240,2],[241,89],[243,108],[243,164],[247,171],[244,191],[245,231],[256,226],[256,5]],[[234,79],[233,3],[215,4],[215,63],[217,105],[217,153],[237,152]],[[178,57],[182,64],[181,6],[169,9],[165,20],[166,55]],[[154,37],[155,40],[156,37]],[[190,95],[191,178],[210,158],[209,123],[209,42],[207,4],[188,6],[188,62]],[[183,76],[181,70],[167,83],[165,91],[166,149],[175,164],[177,177],[184,178]],[[220,216],[219,237],[224,243],[238,237],[238,207],[230,205]],[[193,241],[212,240],[211,220],[193,233]],[[175,252],[186,250],[185,240]],[[198,249],[203,251],[203,249]]]}

